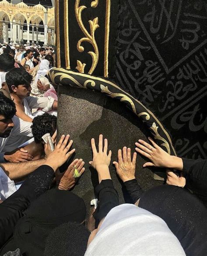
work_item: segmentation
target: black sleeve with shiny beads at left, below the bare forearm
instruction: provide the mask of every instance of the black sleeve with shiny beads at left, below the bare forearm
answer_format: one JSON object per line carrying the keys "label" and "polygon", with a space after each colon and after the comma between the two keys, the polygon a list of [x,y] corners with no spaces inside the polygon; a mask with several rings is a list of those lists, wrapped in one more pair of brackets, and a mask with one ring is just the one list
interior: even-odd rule
{"label": "black sleeve with shiny beads at left, below the bare forearm", "polygon": [[0,247],[13,234],[14,226],[31,201],[43,194],[54,178],[54,170],[47,165],[38,167],[21,187],[0,204]]}

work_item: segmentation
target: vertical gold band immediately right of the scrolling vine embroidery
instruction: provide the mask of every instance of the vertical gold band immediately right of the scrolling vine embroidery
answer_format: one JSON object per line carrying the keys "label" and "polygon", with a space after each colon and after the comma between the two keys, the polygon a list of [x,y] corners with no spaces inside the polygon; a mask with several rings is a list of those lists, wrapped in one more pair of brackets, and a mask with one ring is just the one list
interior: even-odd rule
{"label": "vertical gold band immediately right of the scrolling vine embroidery", "polygon": [[104,42],[104,77],[108,77],[109,30],[110,30],[110,0],[107,0],[106,1],[106,20],[105,20],[105,42]]}

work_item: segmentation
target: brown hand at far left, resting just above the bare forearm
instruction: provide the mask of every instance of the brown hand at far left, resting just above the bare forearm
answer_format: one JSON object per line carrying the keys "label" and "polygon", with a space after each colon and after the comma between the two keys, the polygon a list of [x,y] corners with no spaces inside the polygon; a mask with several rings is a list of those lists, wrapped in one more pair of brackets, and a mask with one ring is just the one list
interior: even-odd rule
{"label": "brown hand at far left, resting just above the bare forearm", "polygon": [[4,159],[10,163],[19,163],[33,160],[33,157],[28,154],[28,151],[21,148],[17,151],[6,152],[4,154]]}

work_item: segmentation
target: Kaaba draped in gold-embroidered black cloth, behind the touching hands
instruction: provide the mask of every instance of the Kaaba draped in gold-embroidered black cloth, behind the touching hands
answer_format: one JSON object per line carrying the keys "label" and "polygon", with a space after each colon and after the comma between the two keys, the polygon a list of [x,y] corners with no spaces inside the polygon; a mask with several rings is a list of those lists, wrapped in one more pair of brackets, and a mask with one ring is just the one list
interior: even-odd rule
{"label": "Kaaba draped in gold-embroidered black cloth, behind the touching hands", "polygon": [[[70,134],[86,171],[74,191],[95,197],[90,139],[103,134],[112,161],[148,135],[171,155],[206,158],[206,3],[193,0],[56,0],[58,134]],[[142,169],[144,190],[163,170]],[[120,202],[121,183],[110,173]],[[164,175],[163,175],[164,176]]]}

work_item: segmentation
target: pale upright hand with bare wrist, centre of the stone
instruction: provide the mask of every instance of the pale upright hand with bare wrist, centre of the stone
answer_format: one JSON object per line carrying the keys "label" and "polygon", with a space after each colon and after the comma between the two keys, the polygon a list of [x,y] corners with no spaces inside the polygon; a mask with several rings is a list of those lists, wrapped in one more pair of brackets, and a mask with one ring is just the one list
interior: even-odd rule
{"label": "pale upright hand with bare wrist, centre of the stone", "polygon": [[99,135],[99,145],[98,145],[98,152],[95,145],[94,138],[91,139],[91,147],[93,151],[93,160],[89,162],[91,166],[93,166],[94,169],[97,170],[98,176],[99,176],[99,182],[101,180],[107,180],[111,179],[109,168],[110,165],[110,158],[111,158],[111,151],[109,151],[107,155],[107,149],[108,149],[108,141],[105,138],[104,139],[104,147],[103,147],[103,135]]}

